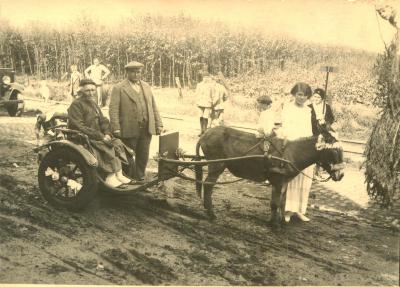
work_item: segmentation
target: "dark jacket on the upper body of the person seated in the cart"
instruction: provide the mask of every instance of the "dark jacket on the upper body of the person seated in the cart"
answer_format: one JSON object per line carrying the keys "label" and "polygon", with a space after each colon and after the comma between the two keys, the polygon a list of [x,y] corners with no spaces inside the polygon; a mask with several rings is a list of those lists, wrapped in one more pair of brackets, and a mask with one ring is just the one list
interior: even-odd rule
{"label": "dark jacket on the upper body of the person seated in the cart", "polygon": [[109,120],[93,100],[84,96],[74,100],[68,108],[68,127],[96,141],[103,140],[106,134],[111,135]]}

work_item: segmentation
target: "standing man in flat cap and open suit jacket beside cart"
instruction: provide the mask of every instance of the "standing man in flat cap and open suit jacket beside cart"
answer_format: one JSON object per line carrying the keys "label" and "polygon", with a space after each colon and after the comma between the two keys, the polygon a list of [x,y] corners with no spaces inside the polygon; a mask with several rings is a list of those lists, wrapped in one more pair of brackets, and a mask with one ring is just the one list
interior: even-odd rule
{"label": "standing man in flat cap and open suit jacket beside cart", "polygon": [[129,62],[126,79],[111,92],[110,121],[116,137],[135,151],[135,168],[130,176],[144,180],[151,137],[163,131],[163,124],[149,84],[141,81],[143,64]]}

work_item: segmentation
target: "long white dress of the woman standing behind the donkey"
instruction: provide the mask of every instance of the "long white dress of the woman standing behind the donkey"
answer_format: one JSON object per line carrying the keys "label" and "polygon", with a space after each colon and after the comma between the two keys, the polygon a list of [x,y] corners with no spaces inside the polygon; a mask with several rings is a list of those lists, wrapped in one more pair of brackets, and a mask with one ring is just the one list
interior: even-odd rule
{"label": "long white dress of the woman standing behind the donkey", "polygon": [[[288,140],[312,136],[311,108],[306,105],[299,107],[294,102],[285,104],[282,110],[282,134]],[[310,178],[300,173],[288,183],[285,211],[306,213],[314,165],[305,168],[303,173]]]}

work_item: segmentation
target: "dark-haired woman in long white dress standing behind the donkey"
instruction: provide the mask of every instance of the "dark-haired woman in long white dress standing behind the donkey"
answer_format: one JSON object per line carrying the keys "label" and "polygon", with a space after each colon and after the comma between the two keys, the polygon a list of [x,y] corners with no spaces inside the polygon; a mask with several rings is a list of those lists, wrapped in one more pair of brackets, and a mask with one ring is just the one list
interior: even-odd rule
{"label": "dark-haired woman in long white dress standing behind the donkey", "polygon": [[[306,83],[297,83],[290,93],[294,96],[294,101],[286,103],[282,108],[281,136],[288,140],[310,137],[313,135],[311,108],[306,103],[312,96],[311,87]],[[314,165],[309,166],[288,183],[285,205],[286,222],[290,221],[292,215],[302,221],[310,220],[305,213],[313,172]]]}

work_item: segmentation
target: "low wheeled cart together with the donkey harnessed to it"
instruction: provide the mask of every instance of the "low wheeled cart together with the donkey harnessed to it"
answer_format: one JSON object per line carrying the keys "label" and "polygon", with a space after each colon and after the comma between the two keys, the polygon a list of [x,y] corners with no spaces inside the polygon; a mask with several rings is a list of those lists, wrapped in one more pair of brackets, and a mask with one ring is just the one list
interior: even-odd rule
{"label": "low wheeled cart together with the donkey harnessed to it", "polygon": [[[271,182],[274,198],[271,201],[271,219],[280,222],[278,211],[284,210],[280,194],[285,193],[283,189],[287,180],[313,163],[322,166],[335,181],[343,177],[343,150],[337,146],[338,142],[321,142],[322,135],[289,142],[282,149],[279,147],[282,139],[257,139],[254,135],[232,128],[216,127],[200,138],[196,155],[186,155],[179,149],[178,132],[161,135],[156,158],[157,175],[143,184],[132,183],[114,188],[105,183],[105,175],[97,168],[97,159],[86,135],[66,126],[55,127],[54,131],[52,140],[35,149],[40,155],[39,187],[48,202],[69,209],[84,208],[93,200],[98,190],[127,195],[157,185],[161,181],[181,177],[194,181],[199,195],[204,191],[204,207],[210,218],[214,218],[212,188],[219,175],[228,169],[241,179],[256,182],[268,179]],[[267,142],[271,148],[266,150]],[[200,148],[204,156],[200,156]],[[125,153],[126,158],[133,158],[133,153],[128,148]],[[133,160],[121,163],[125,175],[130,174]],[[205,165],[208,166],[208,175],[203,181]],[[182,173],[189,167],[194,167],[195,178]]]}

